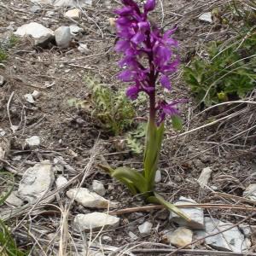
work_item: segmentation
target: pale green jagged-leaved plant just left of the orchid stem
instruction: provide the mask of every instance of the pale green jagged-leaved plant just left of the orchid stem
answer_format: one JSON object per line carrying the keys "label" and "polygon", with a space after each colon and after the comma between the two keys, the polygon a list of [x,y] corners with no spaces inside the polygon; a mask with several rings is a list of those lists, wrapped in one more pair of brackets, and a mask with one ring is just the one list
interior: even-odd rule
{"label": "pale green jagged-leaved plant just left of the orchid stem", "polygon": [[91,114],[96,117],[104,129],[121,135],[127,130],[135,116],[131,102],[125,96],[124,90],[113,90],[108,84],[102,84],[99,79],[84,79],[90,90]]}

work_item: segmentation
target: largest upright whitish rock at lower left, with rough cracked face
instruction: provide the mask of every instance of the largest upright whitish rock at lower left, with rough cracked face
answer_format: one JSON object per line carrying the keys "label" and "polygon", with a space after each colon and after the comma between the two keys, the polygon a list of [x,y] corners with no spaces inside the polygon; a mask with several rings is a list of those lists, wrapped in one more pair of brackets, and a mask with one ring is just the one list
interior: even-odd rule
{"label": "largest upright whitish rock at lower left, with rough cracked face", "polygon": [[54,182],[54,173],[49,160],[44,160],[26,170],[20,180],[18,196],[29,203],[34,203],[45,195]]}

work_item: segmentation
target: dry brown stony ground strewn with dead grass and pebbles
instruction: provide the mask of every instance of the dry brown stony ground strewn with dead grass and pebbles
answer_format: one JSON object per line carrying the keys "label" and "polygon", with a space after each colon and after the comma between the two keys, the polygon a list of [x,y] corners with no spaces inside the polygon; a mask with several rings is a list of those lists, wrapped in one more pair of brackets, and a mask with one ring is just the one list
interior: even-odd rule
{"label": "dry brown stony ground strewn with dead grass and pebbles", "polygon": [[[73,7],[37,2],[0,1],[0,43],[9,55],[0,62],[0,167],[7,172],[1,173],[1,192],[13,177],[15,182],[0,217],[18,246],[32,255],[176,255],[177,247],[186,255],[256,255],[254,105],[200,112],[177,73],[172,99],[189,101],[182,107],[183,131],[167,128],[156,189],[166,200],[188,205],[183,211],[193,222],[148,207],[98,169],[102,162],[141,168],[143,156],[92,118],[84,82],[96,75],[113,90],[125,86],[115,78],[116,36],[109,20],[118,1],[79,3],[78,18],[67,16]],[[178,24],[183,64],[203,54],[202,44],[232,35],[200,19],[222,2],[160,3],[153,19],[165,28]],[[52,32],[40,40],[13,36],[30,22]],[[72,29],[77,32],[70,34]],[[66,38],[57,40],[56,30]],[[85,108],[71,106],[73,99]],[[247,100],[255,102],[255,92]],[[204,238],[213,233],[218,235]]]}

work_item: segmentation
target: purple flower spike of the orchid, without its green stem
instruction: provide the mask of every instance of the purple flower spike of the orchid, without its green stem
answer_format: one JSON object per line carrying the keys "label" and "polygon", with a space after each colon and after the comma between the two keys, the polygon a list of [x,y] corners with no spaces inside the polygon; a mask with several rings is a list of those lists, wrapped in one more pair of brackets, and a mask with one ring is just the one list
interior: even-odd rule
{"label": "purple flower spike of the orchid, without its green stem", "polygon": [[[179,60],[172,51],[177,48],[177,41],[171,36],[177,27],[162,35],[160,29],[149,22],[148,12],[155,8],[155,0],[148,0],[143,12],[133,0],[123,0],[122,3],[125,6],[115,11],[119,15],[116,20],[119,41],[115,49],[124,54],[119,67],[125,68],[119,73],[119,79],[133,82],[126,90],[131,100],[137,99],[141,91],[148,94],[151,114],[157,112],[157,124],[160,125],[166,115],[178,114],[175,107],[179,101],[154,102],[158,78],[166,90],[172,89],[169,76],[176,72]],[[144,58],[148,59],[148,67],[142,64]]]}

